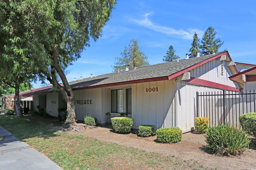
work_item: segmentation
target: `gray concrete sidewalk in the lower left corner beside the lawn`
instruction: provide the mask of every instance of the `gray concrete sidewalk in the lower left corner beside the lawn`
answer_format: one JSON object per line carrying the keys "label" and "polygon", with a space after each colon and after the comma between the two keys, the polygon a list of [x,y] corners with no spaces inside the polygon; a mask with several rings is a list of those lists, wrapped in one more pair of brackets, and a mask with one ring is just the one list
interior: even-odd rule
{"label": "gray concrete sidewalk in the lower left corner beside the lawn", "polygon": [[30,148],[0,126],[0,170],[62,170],[45,155]]}

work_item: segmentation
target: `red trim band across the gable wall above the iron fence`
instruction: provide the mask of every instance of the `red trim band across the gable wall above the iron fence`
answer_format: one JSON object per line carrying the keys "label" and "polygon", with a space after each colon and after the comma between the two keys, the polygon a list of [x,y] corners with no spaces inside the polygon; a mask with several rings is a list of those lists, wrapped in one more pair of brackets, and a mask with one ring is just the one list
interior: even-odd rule
{"label": "red trim band across the gable wall above the iron fence", "polygon": [[219,84],[219,83],[208,81],[208,80],[198,79],[195,77],[190,77],[190,80],[183,80],[183,82],[188,82],[191,84],[197,84],[201,86],[207,86],[207,87],[218,88],[223,90],[240,91],[239,88],[234,88],[232,86],[227,86],[224,84]]}

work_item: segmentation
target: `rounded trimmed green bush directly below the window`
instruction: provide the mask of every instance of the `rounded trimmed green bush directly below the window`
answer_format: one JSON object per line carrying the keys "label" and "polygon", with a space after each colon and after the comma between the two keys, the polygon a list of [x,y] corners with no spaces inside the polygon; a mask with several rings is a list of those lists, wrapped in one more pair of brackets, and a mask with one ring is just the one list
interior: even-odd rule
{"label": "rounded trimmed green bush directly below the window", "polygon": [[130,133],[133,127],[133,119],[128,117],[112,117],[112,126],[115,132]]}

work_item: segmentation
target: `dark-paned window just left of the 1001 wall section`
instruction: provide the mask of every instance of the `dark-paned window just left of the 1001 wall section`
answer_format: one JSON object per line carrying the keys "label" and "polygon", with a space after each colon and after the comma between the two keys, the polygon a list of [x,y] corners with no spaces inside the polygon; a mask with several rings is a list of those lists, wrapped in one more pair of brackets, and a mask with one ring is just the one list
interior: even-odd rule
{"label": "dark-paned window just left of the 1001 wall section", "polygon": [[111,90],[112,113],[132,113],[132,90],[126,88],[125,94],[123,92],[123,89]]}

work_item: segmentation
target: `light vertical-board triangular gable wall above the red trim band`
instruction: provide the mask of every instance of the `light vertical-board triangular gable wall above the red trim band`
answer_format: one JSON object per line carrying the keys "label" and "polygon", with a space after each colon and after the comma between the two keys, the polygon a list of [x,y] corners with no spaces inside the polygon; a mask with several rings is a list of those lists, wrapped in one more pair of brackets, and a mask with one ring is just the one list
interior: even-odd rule
{"label": "light vertical-board triangular gable wall above the red trim band", "polygon": [[223,75],[221,75],[221,61],[216,61],[215,59],[203,64],[202,66],[194,68],[189,72],[191,77],[239,88],[236,82],[233,82],[228,78],[233,74],[231,73],[229,66],[226,66],[225,61],[223,61]]}

